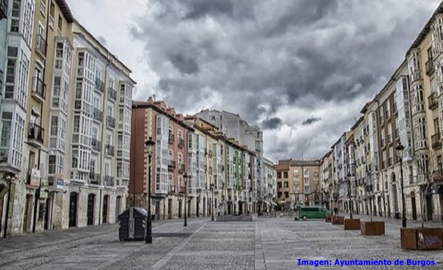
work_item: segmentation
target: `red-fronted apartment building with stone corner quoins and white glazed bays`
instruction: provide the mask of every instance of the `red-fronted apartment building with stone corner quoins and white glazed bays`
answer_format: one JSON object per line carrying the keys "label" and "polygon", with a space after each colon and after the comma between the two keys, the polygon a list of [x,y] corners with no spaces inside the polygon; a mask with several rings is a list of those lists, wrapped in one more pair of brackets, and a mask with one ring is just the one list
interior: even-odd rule
{"label": "red-fronted apartment building with stone corner quoins and white glazed bays", "polygon": [[[196,160],[192,150],[194,129],[164,101],[150,97],[146,102],[132,102],[130,180],[128,206],[148,206],[151,188],[151,212],[156,218],[182,217],[191,207],[196,188]],[[156,144],[149,164],[145,142]],[[190,149],[191,148],[191,149]],[[149,187],[151,167],[151,187]],[[185,202],[187,193],[188,202]],[[188,211],[189,215],[195,212]]]}

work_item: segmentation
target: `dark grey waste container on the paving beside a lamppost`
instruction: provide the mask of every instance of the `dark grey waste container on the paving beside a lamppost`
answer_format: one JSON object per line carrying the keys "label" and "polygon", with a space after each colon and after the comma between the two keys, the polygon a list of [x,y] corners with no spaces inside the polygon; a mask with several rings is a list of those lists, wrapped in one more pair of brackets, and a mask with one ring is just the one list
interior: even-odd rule
{"label": "dark grey waste container on the paving beside a lamppost", "polygon": [[143,240],[146,236],[148,212],[144,208],[130,207],[119,215],[119,239]]}

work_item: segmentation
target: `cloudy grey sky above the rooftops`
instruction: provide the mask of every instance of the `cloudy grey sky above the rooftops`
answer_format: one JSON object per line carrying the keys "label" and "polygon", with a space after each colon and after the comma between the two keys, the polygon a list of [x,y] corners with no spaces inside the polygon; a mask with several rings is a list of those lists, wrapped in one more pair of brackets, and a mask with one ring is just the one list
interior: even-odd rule
{"label": "cloudy grey sky above the rooftops", "polygon": [[319,159],[440,0],[66,0],[131,70],[134,100],[238,113],[264,156]]}

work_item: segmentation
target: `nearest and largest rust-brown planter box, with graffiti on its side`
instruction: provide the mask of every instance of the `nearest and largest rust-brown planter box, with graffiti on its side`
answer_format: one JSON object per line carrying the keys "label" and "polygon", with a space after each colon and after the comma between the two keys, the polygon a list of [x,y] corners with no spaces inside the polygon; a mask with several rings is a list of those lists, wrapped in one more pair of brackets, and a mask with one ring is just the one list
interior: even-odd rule
{"label": "nearest and largest rust-brown planter box, with graffiti on its side", "polygon": [[400,244],[403,249],[441,249],[442,228],[400,228]]}

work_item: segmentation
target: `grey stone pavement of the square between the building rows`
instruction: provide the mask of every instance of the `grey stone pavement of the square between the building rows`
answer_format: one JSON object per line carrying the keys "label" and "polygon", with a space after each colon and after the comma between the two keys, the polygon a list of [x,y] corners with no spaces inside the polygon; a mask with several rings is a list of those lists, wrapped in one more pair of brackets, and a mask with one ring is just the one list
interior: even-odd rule
{"label": "grey stone pavement of the square between the building rows", "polygon": [[[369,220],[368,216],[359,216]],[[153,244],[119,241],[118,225],[11,237],[0,240],[0,269],[314,269],[301,260],[434,260],[427,268],[442,269],[442,251],[405,251],[400,248],[400,220],[386,222],[386,235],[361,236],[323,220],[254,218],[252,222],[211,222],[209,218],[155,221]],[[419,226],[410,222],[408,226]],[[428,226],[428,225],[427,225]],[[442,226],[433,224],[431,226]],[[320,269],[359,269],[356,266],[320,266]]]}

